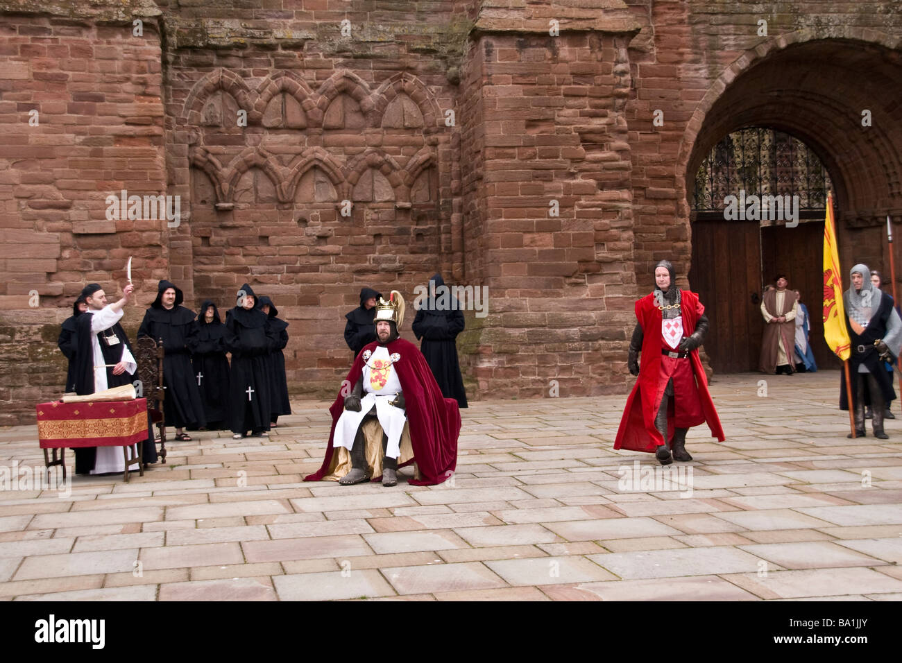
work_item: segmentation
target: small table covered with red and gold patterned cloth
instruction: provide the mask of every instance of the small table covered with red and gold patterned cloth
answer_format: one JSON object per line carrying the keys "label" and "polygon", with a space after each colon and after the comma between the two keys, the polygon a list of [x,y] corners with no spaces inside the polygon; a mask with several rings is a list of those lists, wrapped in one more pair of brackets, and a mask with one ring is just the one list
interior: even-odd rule
{"label": "small table covered with red and gold patterned cloth", "polygon": [[[67,448],[122,447],[125,459],[124,479],[129,480],[128,466],[135,461],[133,445],[138,446],[138,470],[144,475],[143,443],[147,439],[147,399],[133,401],[92,401],[38,403],[38,442],[44,450],[48,474],[53,465],[62,466],[66,478]],[[47,454],[52,449],[53,458]],[[60,458],[56,450],[60,449]]]}

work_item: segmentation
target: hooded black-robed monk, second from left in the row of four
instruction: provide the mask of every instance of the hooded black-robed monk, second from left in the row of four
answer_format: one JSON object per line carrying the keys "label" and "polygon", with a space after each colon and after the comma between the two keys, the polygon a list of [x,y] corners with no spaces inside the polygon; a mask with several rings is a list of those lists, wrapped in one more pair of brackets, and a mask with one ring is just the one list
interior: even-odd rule
{"label": "hooded black-robed monk, second from left in the row of four", "polygon": [[226,326],[210,299],[200,305],[194,321],[195,334],[189,338],[191,364],[198,382],[200,400],[204,404],[207,430],[223,430],[231,423],[228,416],[228,359],[226,359]]}

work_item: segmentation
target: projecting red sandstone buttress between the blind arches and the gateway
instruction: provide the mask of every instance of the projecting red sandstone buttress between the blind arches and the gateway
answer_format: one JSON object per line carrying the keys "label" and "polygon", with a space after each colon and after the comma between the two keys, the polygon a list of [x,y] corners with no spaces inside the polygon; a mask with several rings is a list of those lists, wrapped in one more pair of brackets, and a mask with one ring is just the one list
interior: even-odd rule
{"label": "projecting red sandstone buttress between the blind arches and the gateway", "polygon": [[489,33],[469,51],[465,243],[491,311],[465,347],[492,396],[618,388],[634,293],[628,40]]}

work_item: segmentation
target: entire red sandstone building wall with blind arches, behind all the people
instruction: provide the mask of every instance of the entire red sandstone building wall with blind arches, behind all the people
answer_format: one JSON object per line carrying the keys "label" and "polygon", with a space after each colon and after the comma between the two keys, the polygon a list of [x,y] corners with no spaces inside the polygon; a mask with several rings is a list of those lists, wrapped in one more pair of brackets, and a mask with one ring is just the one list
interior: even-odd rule
{"label": "entire red sandstone building wall with blind arches, behind all the people", "polygon": [[[459,344],[471,395],[548,396],[557,380],[566,396],[626,388],[631,300],[659,258],[685,275],[686,174],[732,124],[794,123],[823,148],[856,260],[885,268],[880,215],[902,218],[893,3],[759,16],[703,0],[158,0],[163,36],[149,18],[142,38],[133,14],[159,11],[144,0],[46,8],[68,18],[13,5],[0,0],[0,422],[55,395],[59,322],[85,281],[121,284],[128,254],[144,305],[162,277],[189,305],[227,305],[244,281],[272,296],[306,393],[344,372],[341,316],[361,285],[412,294],[441,269],[490,288],[489,317],[468,313]],[[830,41],[778,60],[816,40]],[[790,98],[813,79],[816,101]],[[391,106],[401,92],[416,110]],[[870,133],[843,111],[865,104]],[[107,222],[103,198],[123,187],[180,195],[181,225]]]}

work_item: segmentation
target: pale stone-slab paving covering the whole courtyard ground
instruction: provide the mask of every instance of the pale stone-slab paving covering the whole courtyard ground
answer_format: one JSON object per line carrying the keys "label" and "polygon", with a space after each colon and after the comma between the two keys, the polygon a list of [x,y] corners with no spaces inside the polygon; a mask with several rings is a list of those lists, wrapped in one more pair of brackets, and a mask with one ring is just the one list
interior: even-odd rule
{"label": "pale stone-slab paving covering the whole courtyard ground", "polygon": [[[654,457],[612,448],[623,394],[474,401],[454,481],[391,489],[303,483],[330,421],[297,401],[130,483],[0,493],[0,600],[899,600],[902,419],[847,439],[838,373],[758,380],[715,376],[726,442],[691,429],[679,481],[645,487],[622,479]],[[42,465],[34,426],[0,429],[13,461]]]}

